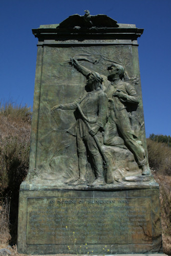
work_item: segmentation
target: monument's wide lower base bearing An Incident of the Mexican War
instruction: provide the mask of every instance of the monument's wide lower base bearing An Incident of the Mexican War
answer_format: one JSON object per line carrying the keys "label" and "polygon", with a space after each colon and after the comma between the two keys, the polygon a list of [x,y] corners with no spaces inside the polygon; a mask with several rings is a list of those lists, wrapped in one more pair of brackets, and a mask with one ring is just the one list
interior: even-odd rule
{"label": "monument's wide lower base bearing An Incident of the Mexican War", "polygon": [[18,252],[162,253],[157,183],[34,186],[19,193]]}

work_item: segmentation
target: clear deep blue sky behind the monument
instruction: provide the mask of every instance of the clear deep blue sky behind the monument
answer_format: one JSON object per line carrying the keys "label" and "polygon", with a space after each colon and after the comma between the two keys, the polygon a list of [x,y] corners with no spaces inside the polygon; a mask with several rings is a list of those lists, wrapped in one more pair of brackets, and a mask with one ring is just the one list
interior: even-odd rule
{"label": "clear deep blue sky behind the monument", "polygon": [[33,106],[37,38],[31,29],[84,10],[144,28],[138,42],[146,136],[171,135],[170,0],[1,0],[0,99]]}

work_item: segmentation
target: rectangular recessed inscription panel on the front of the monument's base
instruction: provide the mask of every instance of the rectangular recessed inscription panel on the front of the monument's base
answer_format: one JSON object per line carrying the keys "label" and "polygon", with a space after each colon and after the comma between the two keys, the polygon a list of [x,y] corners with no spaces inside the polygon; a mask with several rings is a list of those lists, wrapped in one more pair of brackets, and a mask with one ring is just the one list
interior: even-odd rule
{"label": "rectangular recessed inscription panel on the front of the monument's base", "polygon": [[152,233],[151,198],[28,198],[27,208],[27,245],[143,244]]}

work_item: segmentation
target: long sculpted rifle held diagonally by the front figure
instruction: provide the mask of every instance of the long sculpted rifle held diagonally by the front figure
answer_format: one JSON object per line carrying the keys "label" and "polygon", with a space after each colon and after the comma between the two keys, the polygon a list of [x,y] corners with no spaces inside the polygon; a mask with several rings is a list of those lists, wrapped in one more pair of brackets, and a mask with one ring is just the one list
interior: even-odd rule
{"label": "long sculpted rifle held diagonally by the front figure", "polygon": [[[87,121],[87,118],[84,116],[81,108],[80,108],[80,105],[76,102],[76,105],[77,105],[77,108],[79,110],[79,113],[81,114],[82,116],[82,119],[84,121],[84,123],[86,123],[87,127],[88,127],[88,130],[89,132],[91,131],[91,127],[89,125],[89,122]],[[112,177],[112,172],[111,172],[111,169],[110,169],[110,166],[109,166],[109,161],[108,161],[108,158],[106,157],[106,155],[104,154],[103,150],[102,150],[102,147],[98,141],[98,138],[96,135],[92,136],[96,142],[96,145],[99,149],[99,152],[100,152],[100,155],[103,159],[103,162],[104,162],[104,165],[105,165],[105,168],[106,168],[106,182],[107,183],[113,183],[113,177]]]}

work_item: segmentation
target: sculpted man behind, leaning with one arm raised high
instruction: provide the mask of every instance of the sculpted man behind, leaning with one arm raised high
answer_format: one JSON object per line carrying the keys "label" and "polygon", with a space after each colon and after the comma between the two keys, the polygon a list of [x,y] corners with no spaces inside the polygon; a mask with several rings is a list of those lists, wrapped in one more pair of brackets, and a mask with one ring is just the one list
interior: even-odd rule
{"label": "sculpted man behind, leaning with one arm raised high", "polygon": [[[73,60],[74,67],[84,76],[89,76],[90,70],[81,66],[77,60]],[[113,100],[114,106],[110,108],[110,118],[115,121],[119,135],[124,140],[125,145],[134,154],[140,168],[142,168],[142,175],[149,175],[150,169],[147,158],[144,156],[142,146],[135,140],[129,113],[127,112],[128,105],[139,103],[139,98],[134,87],[122,80],[124,75],[124,68],[121,65],[113,64],[108,67],[108,78],[101,75],[103,78],[103,90],[108,97]]]}

